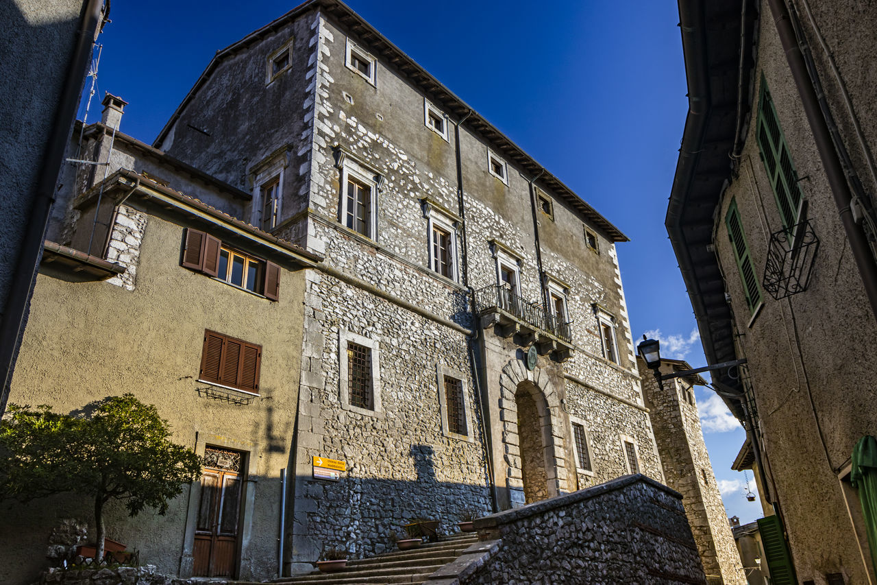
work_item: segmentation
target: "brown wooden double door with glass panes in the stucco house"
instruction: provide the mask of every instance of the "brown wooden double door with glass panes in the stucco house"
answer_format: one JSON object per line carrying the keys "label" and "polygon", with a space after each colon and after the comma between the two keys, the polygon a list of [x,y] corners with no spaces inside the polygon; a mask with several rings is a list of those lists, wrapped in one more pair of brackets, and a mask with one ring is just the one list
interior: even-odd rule
{"label": "brown wooden double door with glass panes in the stucco house", "polygon": [[234,577],[238,564],[243,459],[238,451],[207,447],[195,528],[196,577]]}

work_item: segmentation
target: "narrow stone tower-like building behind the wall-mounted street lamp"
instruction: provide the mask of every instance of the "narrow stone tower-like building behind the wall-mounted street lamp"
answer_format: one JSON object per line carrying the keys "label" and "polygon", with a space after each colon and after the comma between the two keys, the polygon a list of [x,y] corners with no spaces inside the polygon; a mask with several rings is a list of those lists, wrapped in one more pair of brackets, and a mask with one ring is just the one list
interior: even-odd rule
{"label": "narrow stone tower-like building behind the wall-mounted street lamp", "polygon": [[[638,357],[637,362],[640,372],[649,372],[642,358]],[[670,374],[691,369],[685,361],[663,358],[659,371]],[[645,406],[652,417],[664,479],[682,495],[707,582],[742,584],[746,582],[743,567],[697,412],[695,386],[704,385],[706,381],[697,374],[667,379],[660,384],[646,375],[643,379]]]}

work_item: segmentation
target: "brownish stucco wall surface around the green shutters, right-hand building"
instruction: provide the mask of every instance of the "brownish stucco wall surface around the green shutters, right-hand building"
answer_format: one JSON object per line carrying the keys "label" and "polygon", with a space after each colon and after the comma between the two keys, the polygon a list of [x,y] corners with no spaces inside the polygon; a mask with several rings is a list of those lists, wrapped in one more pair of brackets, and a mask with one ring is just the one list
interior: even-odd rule
{"label": "brownish stucco wall surface around the green shutters, right-hand building", "polygon": [[[845,83],[863,120],[866,141],[870,141],[875,119],[873,99],[866,96],[873,87],[873,71],[866,72],[861,54],[873,54],[867,22],[875,18],[875,10],[857,6],[845,11],[826,5],[816,14],[831,47],[838,51]],[[824,55],[817,59],[823,60]],[[877,326],[769,13],[760,25],[756,83],[762,75],[774,98],[800,177],[798,184],[809,201],[807,215],[819,238],[819,250],[805,292],[785,300],[774,300],[763,292],[762,307],[752,314],[745,304],[724,225],[731,199],[737,202],[759,279],[770,235],[782,227],[759,159],[753,116],[738,178],[724,193],[717,214],[717,256],[731,295],[738,353],[749,360],[747,369],[766,449],[766,488],[772,500],[781,502],[798,578],[820,582],[821,575],[839,572],[851,582],[865,581],[868,569],[856,545],[838,472],[859,437],[873,433],[869,380],[877,372],[877,363],[863,350],[862,342],[874,338]],[[838,122],[846,125],[845,108],[838,105],[837,85],[826,69],[821,77]],[[756,100],[759,89],[757,85]],[[853,153],[859,152],[858,139],[845,132],[845,141]],[[870,182],[867,176],[863,180]],[[838,543],[848,545],[838,547]]]}

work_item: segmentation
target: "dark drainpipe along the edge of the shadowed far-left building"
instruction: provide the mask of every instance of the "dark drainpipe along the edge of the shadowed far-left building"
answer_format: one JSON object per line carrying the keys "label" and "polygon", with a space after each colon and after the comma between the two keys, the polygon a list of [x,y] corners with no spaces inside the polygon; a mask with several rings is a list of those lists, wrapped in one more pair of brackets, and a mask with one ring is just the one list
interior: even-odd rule
{"label": "dark drainpipe along the edge of the shadowed far-left building", "polygon": [[3,386],[0,387],[0,416],[6,410],[8,389],[12,381],[15,360],[18,357],[18,345],[24,334],[39,260],[43,254],[43,240],[46,235],[49,212],[54,202],[54,191],[58,183],[58,174],[61,171],[61,161],[70,139],[71,122],[76,117],[76,107],[79,105],[79,97],[85,83],[85,72],[91,57],[90,49],[95,42],[102,8],[103,0],[87,0],[82,6],[75,46],[70,54],[58,107],[55,109],[53,125],[49,131],[48,141],[46,141],[46,150],[43,153],[43,162],[39,169],[39,178],[28,213],[29,220],[21,241],[18,261],[13,272],[9,296],[6,299],[5,307],[3,307],[3,317],[0,318],[0,368],[3,369]]}

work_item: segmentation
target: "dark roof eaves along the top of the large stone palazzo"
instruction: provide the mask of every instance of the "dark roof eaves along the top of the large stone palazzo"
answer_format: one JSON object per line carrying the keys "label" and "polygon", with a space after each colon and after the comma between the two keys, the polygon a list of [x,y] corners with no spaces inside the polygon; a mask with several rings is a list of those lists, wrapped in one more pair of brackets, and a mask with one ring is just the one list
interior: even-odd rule
{"label": "dark roof eaves along the top of the large stone palazzo", "polygon": [[546,189],[551,191],[556,197],[563,200],[567,205],[571,206],[574,211],[580,213],[587,219],[593,227],[596,227],[602,234],[612,242],[629,242],[628,238],[620,229],[607,220],[602,214],[598,213],[594,207],[589,206],[584,199],[581,199],[572,189],[567,187],[558,177],[545,169],[541,164],[536,162],[530,155],[524,152],[508,136],[500,132],[496,126],[490,124],[481,114],[475,112],[472,107],[467,105],[460,97],[457,97],[453,91],[447,89],[445,85],[438,79],[431,76],[424,68],[417,64],[402,49],[396,47],[386,37],[384,37],[374,26],[369,25],[366,20],[353,11],[349,6],[339,0],[309,0],[303,4],[299,4],[296,8],[287,12],[280,18],[276,18],[272,22],[260,29],[251,32],[243,39],[233,43],[217,51],[213,56],[207,68],[204,69],[201,76],[189,90],[186,97],[183,98],[179,106],[177,106],[173,115],[168,119],[168,123],[161,129],[158,137],[153,142],[153,147],[161,148],[162,142],[174,126],[177,119],[180,118],[182,112],[189,105],[189,102],[201,90],[203,85],[207,83],[210,76],[217,69],[219,64],[226,59],[232,57],[248,47],[253,46],[268,34],[273,34],[282,26],[287,25],[289,21],[302,16],[309,11],[323,11],[325,14],[334,18],[340,25],[345,26],[348,30],[356,34],[359,39],[366,43],[369,50],[380,54],[392,67],[395,67],[400,73],[406,76],[417,89],[424,92],[431,102],[440,105],[445,112],[453,114],[453,118],[460,120],[466,118],[463,126],[467,126],[475,134],[481,135],[485,141],[488,141],[497,152],[502,153],[503,157],[514,162],[519,170],[529,177],[539,176],[539,183],[545,185]]}

